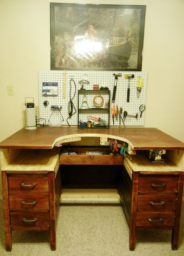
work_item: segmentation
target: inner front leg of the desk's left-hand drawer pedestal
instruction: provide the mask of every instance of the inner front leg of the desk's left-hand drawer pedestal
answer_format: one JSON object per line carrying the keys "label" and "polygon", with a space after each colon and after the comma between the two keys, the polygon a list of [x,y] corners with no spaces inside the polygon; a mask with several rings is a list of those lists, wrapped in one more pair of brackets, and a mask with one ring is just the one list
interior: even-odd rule
{"label": "inner front leg of the desk's left-hand drawer pedestal", "polygon": [[56,250],[56,208],[54,194],[54,171],[49,172],[50,247]]}

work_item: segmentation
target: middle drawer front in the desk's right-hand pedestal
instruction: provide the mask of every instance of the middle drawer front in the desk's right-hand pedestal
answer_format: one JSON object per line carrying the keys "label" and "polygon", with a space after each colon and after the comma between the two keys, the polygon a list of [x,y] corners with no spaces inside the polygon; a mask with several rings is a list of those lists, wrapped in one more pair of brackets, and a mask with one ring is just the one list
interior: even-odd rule
{"label": "middle drawer front in the desk's right-hand pedestal", "polygon": [[174,212],[176,195],[139,195],[137,210],[139,212]]}

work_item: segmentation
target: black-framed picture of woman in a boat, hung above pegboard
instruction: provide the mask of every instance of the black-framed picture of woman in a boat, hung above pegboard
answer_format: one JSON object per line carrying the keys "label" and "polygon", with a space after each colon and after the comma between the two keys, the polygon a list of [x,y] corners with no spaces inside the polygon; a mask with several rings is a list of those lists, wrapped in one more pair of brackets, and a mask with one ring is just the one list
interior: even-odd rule
{"label": "black-framed picture of woman in a boat, hung above pegboard", "polygon": [[141,71],[146,5],[50,3],[51,70]]}

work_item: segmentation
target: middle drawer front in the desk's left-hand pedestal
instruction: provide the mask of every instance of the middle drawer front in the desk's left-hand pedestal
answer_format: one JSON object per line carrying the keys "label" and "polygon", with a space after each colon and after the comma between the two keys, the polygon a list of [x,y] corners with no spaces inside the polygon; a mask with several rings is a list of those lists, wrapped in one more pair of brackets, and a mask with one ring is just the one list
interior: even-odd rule
{"label": "middle drawer front in the desk's left-hand pedestal", "polygon": [[10,195],[10,210],[49,210],[48,195]]}

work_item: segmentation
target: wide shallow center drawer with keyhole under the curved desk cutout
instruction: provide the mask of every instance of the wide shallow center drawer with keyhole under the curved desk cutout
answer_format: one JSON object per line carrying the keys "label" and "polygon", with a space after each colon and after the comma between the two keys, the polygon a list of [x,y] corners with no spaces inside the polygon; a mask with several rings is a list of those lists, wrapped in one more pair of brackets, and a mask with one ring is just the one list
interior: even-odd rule
{"label": "wide shallow center drawer with keyhole under the curved desk cutout", "polygon": [[61,165],[123,165],[121,155],[60,155]]}

